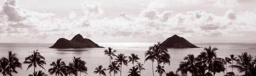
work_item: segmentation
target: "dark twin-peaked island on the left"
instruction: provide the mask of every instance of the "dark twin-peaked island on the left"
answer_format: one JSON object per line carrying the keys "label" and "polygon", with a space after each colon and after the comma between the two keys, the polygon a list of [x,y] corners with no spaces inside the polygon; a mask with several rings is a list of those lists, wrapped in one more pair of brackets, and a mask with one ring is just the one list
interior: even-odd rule
{"label": "dark twin-peaked island on the left", "polygon": [[53,46],[49,48],[104,48],[98,46],[92,40],[83,38],[82,35],[77,34],[71,40],[66,38],[59,38]]}

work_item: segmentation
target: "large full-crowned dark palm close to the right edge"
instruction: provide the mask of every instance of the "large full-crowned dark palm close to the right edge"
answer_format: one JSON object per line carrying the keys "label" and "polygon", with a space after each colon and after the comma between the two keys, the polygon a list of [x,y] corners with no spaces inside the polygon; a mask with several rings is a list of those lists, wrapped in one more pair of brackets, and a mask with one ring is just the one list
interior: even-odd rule
{"label": "large full-crowned dark palm close to the right edge", "polygon": [[238,56],[238,60],[236,65],[231,65],[229,67],[234,67],[234,68],[238,68],[237,70],[242,73],[245,72],[244,76],[250,76],[251,72],[250,72],[250,68],[254,67],[254,65],[252,65],[252,54],[247,54],[247,52],[242,53],[242,55]]}

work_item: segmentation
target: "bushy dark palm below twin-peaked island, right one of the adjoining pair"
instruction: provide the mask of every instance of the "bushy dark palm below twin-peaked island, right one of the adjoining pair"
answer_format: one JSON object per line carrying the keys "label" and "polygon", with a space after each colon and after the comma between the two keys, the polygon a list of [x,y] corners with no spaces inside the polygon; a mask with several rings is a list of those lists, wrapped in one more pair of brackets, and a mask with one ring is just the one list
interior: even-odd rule
{"label": "bushy dark palm below twin-peaked island, right one of the adjoining pair", "polygon": [[73,57],[73,62],[69,63],[69,68],[71,68],[75,76],[78,75],[78,72],[80,72],[81,76],[81,72],[87,74],[87,67],[85,66],[85,64],[86,62],[84,60],[81,60],[81,57]]}

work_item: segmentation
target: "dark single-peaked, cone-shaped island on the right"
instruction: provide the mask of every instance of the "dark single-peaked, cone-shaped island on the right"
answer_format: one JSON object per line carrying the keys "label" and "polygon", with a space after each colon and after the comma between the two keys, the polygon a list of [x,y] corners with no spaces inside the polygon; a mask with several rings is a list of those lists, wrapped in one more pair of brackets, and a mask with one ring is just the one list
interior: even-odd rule
{"label": "dark single-peaked, cone-shaped island on the right", "polygon": [[183,37],[173,35],[170,38],[167,38],[164,42],[161,43],[161,46],[168,48],[199,48],[194,44],[190,43]]}

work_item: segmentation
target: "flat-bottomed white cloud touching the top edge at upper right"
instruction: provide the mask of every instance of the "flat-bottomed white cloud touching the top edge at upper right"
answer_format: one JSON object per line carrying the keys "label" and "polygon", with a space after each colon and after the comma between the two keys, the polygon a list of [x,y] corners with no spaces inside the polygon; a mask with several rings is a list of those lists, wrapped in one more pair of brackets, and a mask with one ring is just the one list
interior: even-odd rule
{"label": "flat-bottomed white cloud touching the top edge at upper right", "polygon": [[213,4],[213,6],[217,7],[217,8],[228,8],[228,9],[231,9],[231,8],[240,6],[240,4],[239,4],[238,0],[217,0]]}

